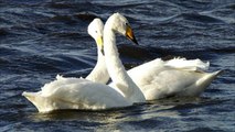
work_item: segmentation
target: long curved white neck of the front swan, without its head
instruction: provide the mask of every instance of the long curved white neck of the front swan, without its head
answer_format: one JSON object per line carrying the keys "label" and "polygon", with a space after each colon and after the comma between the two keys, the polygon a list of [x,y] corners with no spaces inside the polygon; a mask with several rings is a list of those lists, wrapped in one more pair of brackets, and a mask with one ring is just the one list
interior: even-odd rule
{"label": "long curved white neck of the front swan, without its head", "polygon": [[116,87],[131,102],[146,101],[143,94],[128,76],[122,63],[119,59],[115,32],[107,23],[104,29],[104,50],[106,67]]}

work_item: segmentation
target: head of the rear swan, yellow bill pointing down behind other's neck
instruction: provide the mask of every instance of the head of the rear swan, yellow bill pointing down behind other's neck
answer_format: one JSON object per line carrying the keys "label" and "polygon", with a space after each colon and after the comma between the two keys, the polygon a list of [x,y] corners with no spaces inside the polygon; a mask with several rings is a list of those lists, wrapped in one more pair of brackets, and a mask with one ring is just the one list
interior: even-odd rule
{"label": "head of the rear swan, yellow bill pointing down behind other's neck", "polygon": [[100,19],[94,19],[88,28],[87,32],[88,34],[96,41],[98,50],[100,50],[102,54],[104,54],[104,43],[103,43],[103,30],[104,30],[104,23]]}

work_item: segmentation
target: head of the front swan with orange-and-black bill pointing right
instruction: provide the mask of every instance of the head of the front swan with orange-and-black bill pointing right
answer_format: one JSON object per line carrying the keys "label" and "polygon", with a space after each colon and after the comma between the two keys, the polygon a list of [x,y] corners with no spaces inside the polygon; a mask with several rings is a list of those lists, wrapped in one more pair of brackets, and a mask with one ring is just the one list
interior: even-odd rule
{"label": "head of the front swan with orange-and-black bill pointing right", "polygon": [[120,13],[114,13],[111,16],[109,16],[106,23],[113,31],[120,33],[135,44],[138,44],[128,20]]}

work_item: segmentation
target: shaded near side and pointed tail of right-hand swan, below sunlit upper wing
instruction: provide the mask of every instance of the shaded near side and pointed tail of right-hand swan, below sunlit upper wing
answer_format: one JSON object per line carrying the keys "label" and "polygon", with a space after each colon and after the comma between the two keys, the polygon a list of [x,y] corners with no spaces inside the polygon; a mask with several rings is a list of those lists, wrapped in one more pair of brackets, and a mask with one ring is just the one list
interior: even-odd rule
{"label": "shaded near side and pointed tail of right-hand swan, below sunlit upper wing", "polygon": [[195,97],[222,72],[201,73],[180,69],[165,69],[152,76],[151,81],[139,86],[147,100],[160,99],[171,96]]}

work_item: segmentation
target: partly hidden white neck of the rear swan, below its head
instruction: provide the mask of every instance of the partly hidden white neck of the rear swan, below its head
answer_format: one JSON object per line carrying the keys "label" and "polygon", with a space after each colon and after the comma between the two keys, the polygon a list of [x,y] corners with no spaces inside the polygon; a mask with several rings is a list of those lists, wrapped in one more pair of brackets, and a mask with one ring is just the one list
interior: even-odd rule
{"label": "partly hidden white neck of the rear swan, below its head", "polygon": [[98,57],[96,66],[94,67],[92,73],[86,77],[86,79],[95,82],[107,84],[109,75],[105,64],[105,56],[102,54],[99,48],[97,50],[97,55]]}

